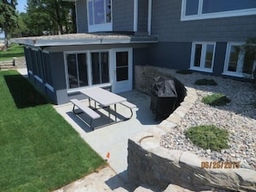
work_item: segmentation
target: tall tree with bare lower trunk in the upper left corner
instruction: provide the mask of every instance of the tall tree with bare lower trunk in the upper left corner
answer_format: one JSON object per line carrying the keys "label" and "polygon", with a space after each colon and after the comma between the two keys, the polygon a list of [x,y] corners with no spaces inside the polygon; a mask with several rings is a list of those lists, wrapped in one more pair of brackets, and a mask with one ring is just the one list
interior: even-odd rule
{"label": "tall tree with bare lower trunk in the upper left corner", "polygon": [[0,0],[0,28],[4,32],[4,50],[9,46],[9,32],[16,27],[16,0]]}

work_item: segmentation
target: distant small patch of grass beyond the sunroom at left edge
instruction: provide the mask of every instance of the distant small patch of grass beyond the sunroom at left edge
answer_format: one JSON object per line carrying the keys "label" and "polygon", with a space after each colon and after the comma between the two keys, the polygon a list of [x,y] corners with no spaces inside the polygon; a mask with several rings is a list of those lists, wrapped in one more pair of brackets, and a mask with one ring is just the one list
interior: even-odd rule
{"label": "distant small patch of grass beyond the sunroom at left edge", "polygon": [[23,56],[23,46],[19,46],[16,43],[11,44],[7,51],[0,51],[0,61],[12,60],[14,57],[18,58]]}

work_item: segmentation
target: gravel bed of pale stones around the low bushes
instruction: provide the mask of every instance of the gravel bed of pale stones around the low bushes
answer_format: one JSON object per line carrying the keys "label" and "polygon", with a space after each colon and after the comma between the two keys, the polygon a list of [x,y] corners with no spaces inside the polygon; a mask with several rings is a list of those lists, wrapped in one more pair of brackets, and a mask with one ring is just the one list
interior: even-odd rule
{"label": "gravel bed of pale stones around the low bushes", "polygon": [[[193,73],[191,75],[172,74],[185,86],[197,90],[197,102],[190,108],[184,119],[170,133],[161,139],[161,146],[172,150],[195,152],[202,158],[213,161],[240,161],[240,166],[256,170],[256,89],[250,83],[228,78],[211,77]],[[200,78],[214,79],[217,86],[199,86],[194,82]],[[220,92],[231,100],[222,107],[211,107],[201,102],[203,96]],[[185,138],[184,130],[197,125],[214,124],[228,130],[228,150],[211,152],[193,146]]]}

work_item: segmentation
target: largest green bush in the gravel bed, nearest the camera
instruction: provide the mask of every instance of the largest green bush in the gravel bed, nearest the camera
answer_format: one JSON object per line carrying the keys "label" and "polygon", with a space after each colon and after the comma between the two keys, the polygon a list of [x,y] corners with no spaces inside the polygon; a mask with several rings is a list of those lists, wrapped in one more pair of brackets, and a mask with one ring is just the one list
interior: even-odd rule
{"label": "largest green bush in the gravel bed, nearest the camera", "polygon": [[203,125],[190,127],[185,131],[185,136],[191,142],[203,149],[220,152],[222,149],[228,149],[228,131],[214,125]]}

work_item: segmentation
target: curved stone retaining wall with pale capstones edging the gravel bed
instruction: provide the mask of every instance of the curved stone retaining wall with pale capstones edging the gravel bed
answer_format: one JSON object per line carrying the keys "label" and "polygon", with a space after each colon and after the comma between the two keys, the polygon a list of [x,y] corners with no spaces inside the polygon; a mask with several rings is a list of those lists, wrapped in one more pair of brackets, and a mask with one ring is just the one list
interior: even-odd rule
{"label": "curved stone retaining wall with pale capstones edging the gravel bed", "polygon": [[[135,85],[148,91],[149,78],[165,75],[150,66],[135,67]],[[153,76],[151,76],[153,75]],[[150,77],[151,76],[151,77]],[[157,185],[162,190],[177,184],[190,190],[253,191],[256,192],[256,171],[248,169],[203,169],[203,161],[192,152],[167,150],[159,146],[160,137],[176,127],[197,100],[196,90],[187,89],[184,102],[172,115],[150,131],[128,139],[128,176],[137,184]]]}

